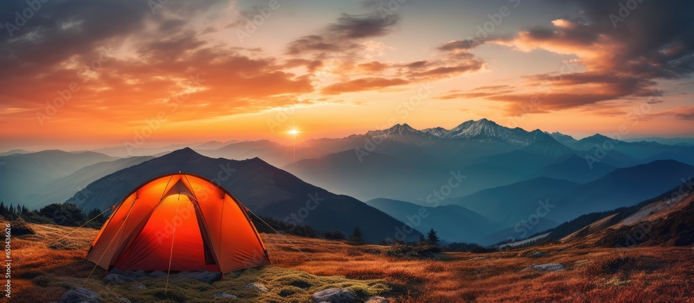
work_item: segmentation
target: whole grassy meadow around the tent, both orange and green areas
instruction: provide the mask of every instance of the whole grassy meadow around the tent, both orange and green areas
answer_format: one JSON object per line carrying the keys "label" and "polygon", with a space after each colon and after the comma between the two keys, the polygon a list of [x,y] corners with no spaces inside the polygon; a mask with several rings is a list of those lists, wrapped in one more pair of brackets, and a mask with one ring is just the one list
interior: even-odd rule
{"label": "whole grassy meadow around the tent, both orange and green areas", "polygon": [[[65,243],[49,248],[71,228],[31,228],[35,234],[13,242],[13,294],[28,302],[55,301],[67,288],[83,284],[94,268],[83,257],[96,230],[78,230]],[[176,281],[164,295],[165,279],[148,279],[143,282],[147,289],[129,291],[133,284],[105,286],[104,272],[97,268],[86,287],[107,302],[119,295],[133,302],[204,302],[221,292],[239,296],[234,302],[307,302],[315,291],[330,287],[349,288],[362,300],[382,295],[398,302],[694,302],[692,248],[595,248],[567,242],[403,258],[386,246],[287,236],[313,260],[309,261],[279,236],[261,236],[273,265],[226,275],[212,285]],[[543,254],[537,257],[534,252]],[[543,263],[561,263],[566,269],[523,270]],[[254,282],[265,284],[269,293],[242,289]]]}

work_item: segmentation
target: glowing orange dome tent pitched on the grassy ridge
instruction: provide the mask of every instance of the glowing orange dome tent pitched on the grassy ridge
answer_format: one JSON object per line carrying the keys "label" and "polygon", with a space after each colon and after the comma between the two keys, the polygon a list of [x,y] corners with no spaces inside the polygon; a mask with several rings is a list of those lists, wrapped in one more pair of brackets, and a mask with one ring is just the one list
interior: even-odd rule
{"label": "glowing orange dome tent pitched on the grassy ridge", "polygon": [[117,204],[87,259],[106,270],[230,272],[267,265],[267,251],[246,211],[207,178],[163,175]]}

